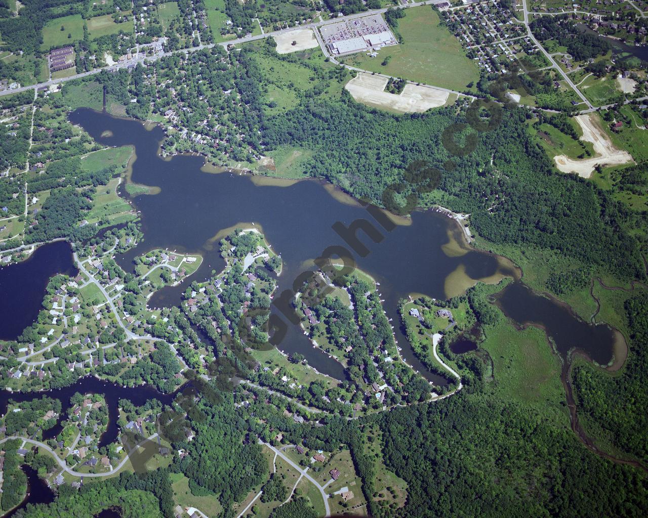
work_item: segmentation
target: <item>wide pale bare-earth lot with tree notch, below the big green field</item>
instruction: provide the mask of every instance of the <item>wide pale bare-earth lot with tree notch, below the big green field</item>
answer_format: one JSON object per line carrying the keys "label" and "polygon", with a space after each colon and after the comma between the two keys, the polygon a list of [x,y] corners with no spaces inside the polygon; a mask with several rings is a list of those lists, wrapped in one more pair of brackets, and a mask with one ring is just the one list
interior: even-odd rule
{"label": "wide pale bare-earth lot with tree notch, below the big green field", "polygon": [[423,112],[430,108],[443,106],[448,100],[448,93],[429,86],[406,84],[397,95],[384,91],[388,78],[359,73],[345,88],[351,96],[369,106],[384,107],[401,113]]}

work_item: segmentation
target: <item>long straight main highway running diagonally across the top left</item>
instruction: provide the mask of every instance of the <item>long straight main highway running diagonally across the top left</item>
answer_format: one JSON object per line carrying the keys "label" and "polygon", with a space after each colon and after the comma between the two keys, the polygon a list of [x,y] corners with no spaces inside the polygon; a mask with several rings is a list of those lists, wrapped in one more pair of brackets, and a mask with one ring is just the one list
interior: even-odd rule
{"label": "long straight main highway running diagonally across the top left", "polygon": [[[401,9],[406,9],[410,7],[415,7],[419,5],[436,5],[439,3],[443,3],[446,0],[425,0],[423,2],[416,2],[408,5],[401,5],[399,8]],[[25,92],[34,88],[41,88],[41,87],[49,87],[51,85],[56,85],[56,84],[62,84],[67,81],[72,81],[75,79],[80,79],[88,76],[93,76],[94,74],[100,73],[102,70],[119,70],[123,69],[126,67],[129,67],[130,65],[135,65],[136,63],[144,63],[144,62],[153,62],[160,60],[161,58],[165,58],[167,56],[172,56],[173,54],[178,54],[179,52],[184,52],[185,54],[189,52],[197,52],[197,51],[202,51],[203,49],[211,49],[215,47],[216,45],[221,45],[222,47],[228,47],[229,45],[237,45],[238,43],[248,43],[249,41],[257,41],[258,39],[264,39],[268,38],[270,36],[277,36],[277,34],[284,34],[285,32],[290,32],[291,30],[295,30],[297,28],[315,28],[315,27],[320,27],[321,25],[327,25],[328,23],[336,23],[345,19],[354,19],[358,17],[363,17],[363,16],[369,16],[371,14],[382,14],[386,12],[387,8],[382,8],[382,9],[372,9],[364,12],[358,12],[356,14],[349,14],[349,16],[341,16],[341,17],[336,17],[332,18],[329,20],[323,20],[323,21],[317,21],[314,23],[308,23],[306,25],[300,25],[299,27],[290,27],[290,28],[285,28],[281,30],[275,30],[273,32],[266,32],[264,34],[257,34],[257,36],[248,36],[246,38],[238,38],[238,39],[230,39],[229,41],[223,41],[222,43],[210,43],[209,45],[198,45],[198,47],[190,47],[189,49],[181,49],[179,51],[170,51],[170,52],[162,52],[160,54],[156,54],[155,56],[144,56],[144,57],[137,57],[135,59],[132,59],[130,61],[122,62],[122,63],[115,63],[115,65],[111,66],[106,66],[102,67],[100,69],[95,69],[91,70],[89,72],[84,72],[81,74],[75,74],[73,76],[69,76],[66,78],[61,78],[61,79],[53,79],[49,81],[45,81],[43,83],[38,83],[34,85],[29,85],[29,86],[23,86],[20,88],[16,88],[15,90],[5,90],[0,92],[0,96],[3,95],[10,95],[12,93],[18,93],[18,92]],[[317,32],[317,31],[316,31]]]}

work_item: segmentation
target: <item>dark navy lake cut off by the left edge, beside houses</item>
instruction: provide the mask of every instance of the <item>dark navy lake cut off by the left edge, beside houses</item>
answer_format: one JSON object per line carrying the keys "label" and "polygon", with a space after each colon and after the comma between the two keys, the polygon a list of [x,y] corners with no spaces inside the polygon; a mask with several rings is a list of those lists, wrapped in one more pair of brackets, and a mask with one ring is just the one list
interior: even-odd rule
{"label": "dark navy lake cut off by the left edge, beside houses", "polygon": [[36,320],[47,282],[58,273],[77,273],[72,249],[64,241],[43,245],[29,259],[0,267],[0,339],[16,339]]}

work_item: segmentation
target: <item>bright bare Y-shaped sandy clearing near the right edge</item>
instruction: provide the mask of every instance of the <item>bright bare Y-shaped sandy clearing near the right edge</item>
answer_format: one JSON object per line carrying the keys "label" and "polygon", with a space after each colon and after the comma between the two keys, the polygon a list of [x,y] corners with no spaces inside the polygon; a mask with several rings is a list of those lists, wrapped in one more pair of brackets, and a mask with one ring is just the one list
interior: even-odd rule
{"label": "bright bare Y-shaped sandy clearing near the right edge", "polygon": [[614,147],[605,131],[599,126],[594,114],[577,115],[575,118],[583,129],[581,140],[594,144],[594,157],[583,160],[574,160],[565,155],[554,157],[556,167],[563,173],[576,173],[583,178],[589,178],[596,164],[619,165],[634,162],[632,155],[627,151]]}

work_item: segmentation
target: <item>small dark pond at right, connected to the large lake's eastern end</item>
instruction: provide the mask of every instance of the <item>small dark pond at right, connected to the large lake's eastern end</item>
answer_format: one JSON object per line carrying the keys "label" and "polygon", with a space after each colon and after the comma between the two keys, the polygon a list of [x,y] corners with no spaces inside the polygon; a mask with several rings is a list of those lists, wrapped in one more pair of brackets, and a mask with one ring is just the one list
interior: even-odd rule
{"label": "small dark pond at right, connected to the large lake's eastern end", "polygon": [[518,324],[544,328],[564,359],[572,349],[586,353],[599,365],[607,365],[612,359],[615,336],[607,325],[588,324],[561,304],[533,293],[521,282],[505,287],[496,301],[505,315]]}

